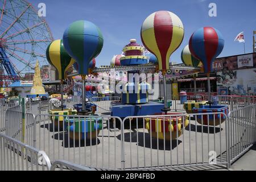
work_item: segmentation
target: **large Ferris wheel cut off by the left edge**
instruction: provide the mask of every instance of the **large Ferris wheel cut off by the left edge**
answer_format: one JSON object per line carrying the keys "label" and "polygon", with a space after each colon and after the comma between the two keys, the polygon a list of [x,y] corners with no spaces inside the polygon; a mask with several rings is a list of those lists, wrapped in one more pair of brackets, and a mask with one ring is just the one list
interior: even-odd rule
{"label": "large Ferris wheel cut off by the left edge", "polygon": [[[46,20],[25,0],[0,0],[0,80],[18,81],[49,65],[46,49],[53,41]],[[1,82],[1,81],[0,81]]]}

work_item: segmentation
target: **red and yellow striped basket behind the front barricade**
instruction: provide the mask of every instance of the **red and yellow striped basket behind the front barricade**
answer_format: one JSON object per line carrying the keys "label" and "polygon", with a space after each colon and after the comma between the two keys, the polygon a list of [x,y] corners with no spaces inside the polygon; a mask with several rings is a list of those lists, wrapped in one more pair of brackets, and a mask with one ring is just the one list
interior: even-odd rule
{"label": "red and yellow striped basket behind the front barricade", "polygon": [[[145,127],[152,138],[161,140],[176,140],[183,134],[185,127],[189,125],[188,116],[181,117],[160,117],[145,118]],[[181,113],[167,113],[168,115],[181,114]],[[184,118],[184,121],[183,121]],[[170,120],[171,119],[171,120]]]}

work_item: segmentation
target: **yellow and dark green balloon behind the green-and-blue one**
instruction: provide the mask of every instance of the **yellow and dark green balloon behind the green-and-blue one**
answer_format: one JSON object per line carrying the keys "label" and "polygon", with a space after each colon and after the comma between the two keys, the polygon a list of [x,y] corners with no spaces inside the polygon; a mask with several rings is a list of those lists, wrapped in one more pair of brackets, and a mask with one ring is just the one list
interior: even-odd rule
{"label": "yellow and dark green balloon behind the green-and-blue one", "polygon": [[46,50],[46,57],[49,64],[59,72],[60,80],[66,78],[65,72],[75,63],[75,60],[65,51],[63,40],[55,40],[49,44]]}

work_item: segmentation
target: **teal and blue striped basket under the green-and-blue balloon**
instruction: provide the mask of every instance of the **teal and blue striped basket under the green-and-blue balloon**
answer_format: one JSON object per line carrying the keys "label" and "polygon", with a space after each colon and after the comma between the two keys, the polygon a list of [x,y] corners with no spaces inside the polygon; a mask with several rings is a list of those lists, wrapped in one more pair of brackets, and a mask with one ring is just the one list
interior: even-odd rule
{"label": "teal and blue striped basket under the green-and-blue balloon", "polygon": [[100,130],[102,130],[102,118],[67,117],[64,125],[65,130],[69,131],[69,138],[71,139],[95,139],[100,133]]}

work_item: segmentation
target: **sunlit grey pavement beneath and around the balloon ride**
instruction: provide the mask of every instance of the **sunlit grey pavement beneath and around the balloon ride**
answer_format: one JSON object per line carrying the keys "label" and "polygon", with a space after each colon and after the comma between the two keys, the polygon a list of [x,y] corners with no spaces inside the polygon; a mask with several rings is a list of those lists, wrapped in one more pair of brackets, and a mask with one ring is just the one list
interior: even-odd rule
{"label": "sunlit grey pavement beneath and around the balloon ride", "polygon": [[[108,111],[104,111],[105,115],[109,114]],[[224,167],[226,161],[225,123],[221,127],[208,128],[191,120],[190,127],[187,127],[183,135],[172,142],[152,138],[148,131],[143,129],[143,124],[142,127],[133,125],[131,129],[126,127],[123,135],[125,142],[121,146],[121,131],[110,131],[106,118],[104,130],[100,131],[97,140],[76,142],[70,139],[67,131],[54,130],[51,120],[46,118],[47,116],[43,117],[42,122],[36,125],[36,148],[44,150],[51,160],[65,159],[93,167],[118,169],[122,165],[121,147],[124,147],[125,168],[127,169],[162,167],[158,170],[228,171]],[[28,129],[27,142],[31,145],[32,135],[32,130]],[[244,143],[239,141],[241,136],[237,138],[238,144],[243,146]],[[207,164],[210,151],[216,151],[218,166]],[[254,146],[238,159],[231,169],[256,170],[255,161],[256,147]],[[203,164],[203,166],[185,167],[183,164]]]}

